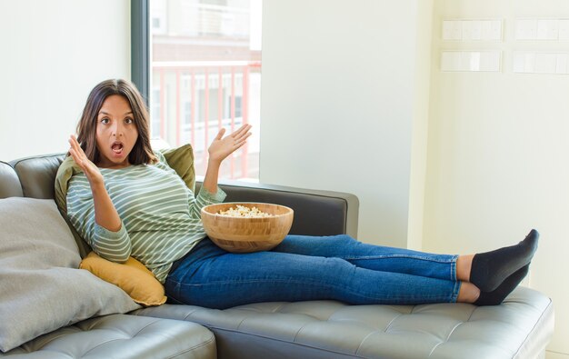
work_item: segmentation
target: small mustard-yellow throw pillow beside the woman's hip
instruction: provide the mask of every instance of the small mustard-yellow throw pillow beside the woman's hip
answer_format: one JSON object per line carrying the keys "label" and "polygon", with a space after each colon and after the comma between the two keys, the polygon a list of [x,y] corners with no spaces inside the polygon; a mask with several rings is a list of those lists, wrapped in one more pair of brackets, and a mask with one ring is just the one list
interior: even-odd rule
{"label": "small mustard-yellow throw pillow beside the woman's hip", "polygon": [[158,282],[145,264],[133,257],[129,257],[124,264],[119,264],[91,252],[81,261],[80,268],[117,285],[138,304],[150,306],[166,302],[164,285]]}

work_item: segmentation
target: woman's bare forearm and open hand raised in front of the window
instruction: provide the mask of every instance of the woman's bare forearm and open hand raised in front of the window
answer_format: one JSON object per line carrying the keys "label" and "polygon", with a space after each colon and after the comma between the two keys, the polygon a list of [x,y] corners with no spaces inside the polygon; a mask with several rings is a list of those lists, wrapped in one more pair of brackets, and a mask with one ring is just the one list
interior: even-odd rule
{"label": "woman's bare forearm and open hand raised in front of the window", "polygon": [[228,155],[233,154],[247,142],[247,137],[251,135],[249,130],[251,125],[242,125],[233,134],[225,136],[225,128],[222,128],[215,136],[214,142],[209,146],[209,160],[205,171],[204,184],[202,184],[210,194],[217,192],[217,178],[219,177],[219,167]]}

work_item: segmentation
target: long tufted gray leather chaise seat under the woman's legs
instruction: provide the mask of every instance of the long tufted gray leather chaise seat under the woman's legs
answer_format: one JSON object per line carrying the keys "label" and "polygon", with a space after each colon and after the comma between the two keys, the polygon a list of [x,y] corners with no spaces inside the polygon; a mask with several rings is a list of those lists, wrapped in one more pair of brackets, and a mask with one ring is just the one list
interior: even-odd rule
{"label": "long tufted gray leather chaise seat under the woman's legs", "polygon": [[164,305],[134,314],[209,327],[220,358],[535,357],[553,334],[553,306],[524,288],[499,306],[260,303],[223,311]]}

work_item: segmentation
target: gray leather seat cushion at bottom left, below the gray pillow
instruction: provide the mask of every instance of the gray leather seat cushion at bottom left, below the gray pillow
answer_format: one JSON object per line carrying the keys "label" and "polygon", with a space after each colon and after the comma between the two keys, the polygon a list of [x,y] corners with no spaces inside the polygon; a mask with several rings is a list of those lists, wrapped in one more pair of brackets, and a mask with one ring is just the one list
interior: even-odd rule
{"label": "gray leather seat cushion at bottom left, below the gray pillow", "polygon": [[215,337],[190,322],[113,314],[42,335],[0,357],[216,358]]}

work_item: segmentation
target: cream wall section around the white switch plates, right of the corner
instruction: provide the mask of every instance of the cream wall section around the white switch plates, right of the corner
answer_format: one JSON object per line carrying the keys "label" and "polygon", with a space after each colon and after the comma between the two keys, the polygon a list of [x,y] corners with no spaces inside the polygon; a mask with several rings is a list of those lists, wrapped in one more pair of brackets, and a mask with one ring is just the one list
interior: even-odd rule
{"label": "cream wall section around the white switch plates, right of the corner", "polygon": [[[569,18],[569,2],[434,2],[423,247],[478,252],[538,229],[529,285],[554,300],[549,350],[569,355],[569,75],[514,74],[512,65],[514,50],[569,52],[569,43],[516,41],[517,17]],[[444,18],[502,18],[504,41],[443,42]],[[439,71],[441,50],[475,46],[503,51],[503,72]]]}

